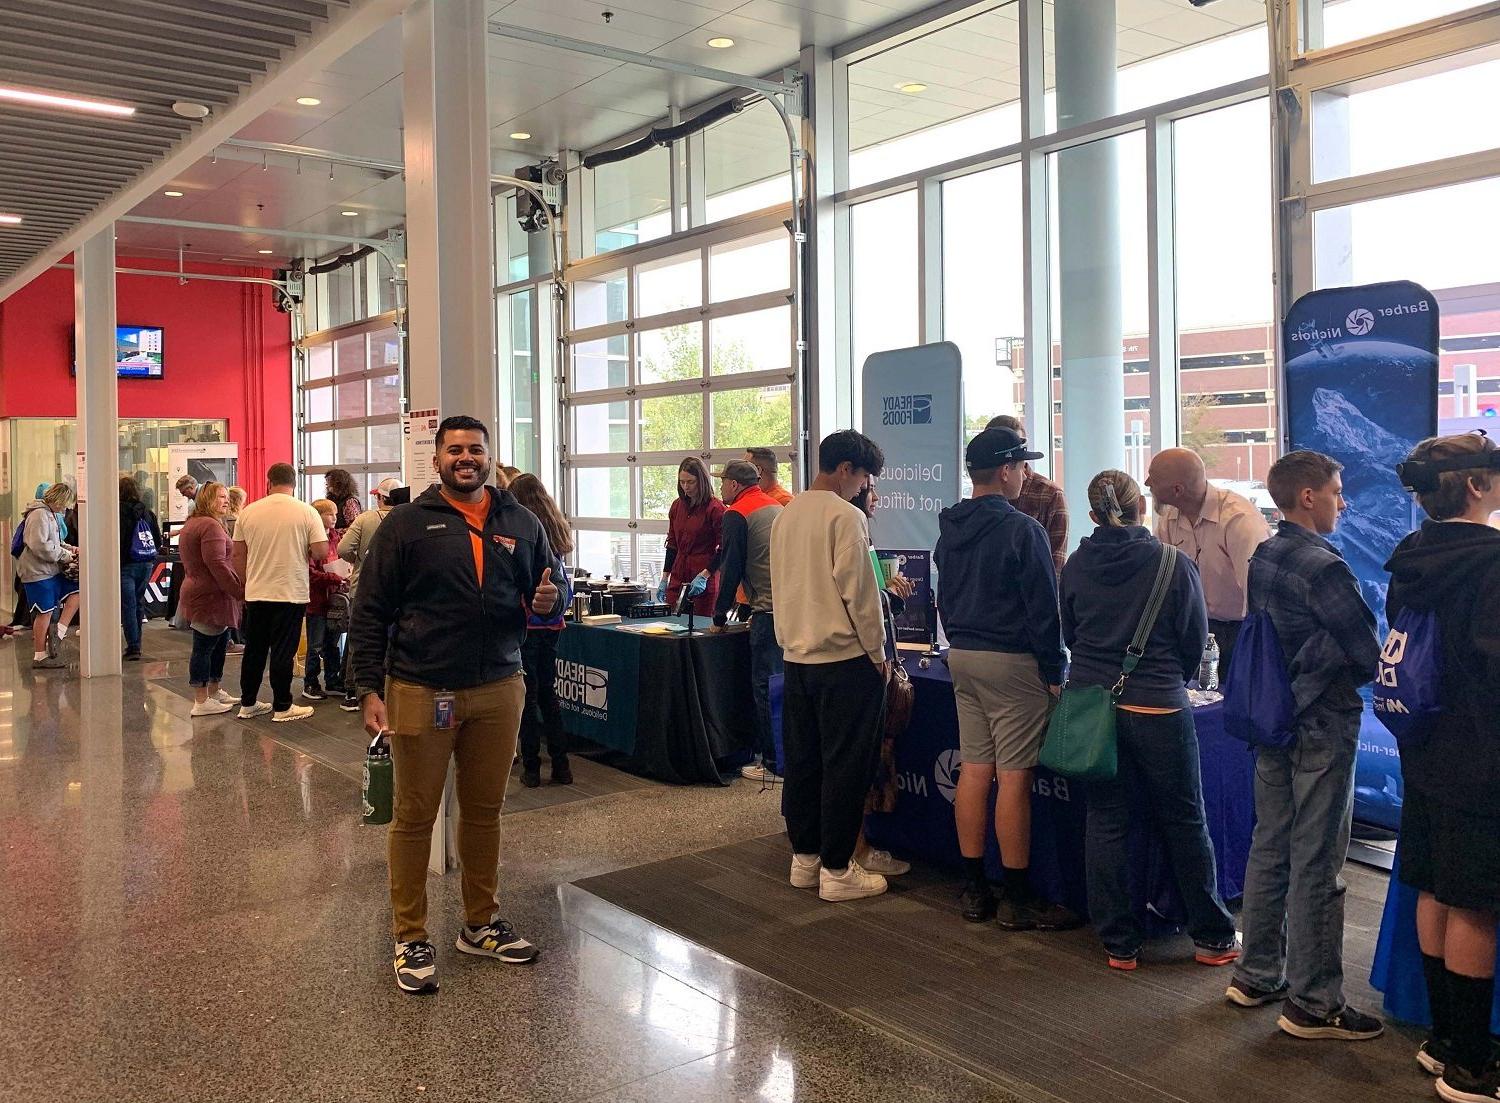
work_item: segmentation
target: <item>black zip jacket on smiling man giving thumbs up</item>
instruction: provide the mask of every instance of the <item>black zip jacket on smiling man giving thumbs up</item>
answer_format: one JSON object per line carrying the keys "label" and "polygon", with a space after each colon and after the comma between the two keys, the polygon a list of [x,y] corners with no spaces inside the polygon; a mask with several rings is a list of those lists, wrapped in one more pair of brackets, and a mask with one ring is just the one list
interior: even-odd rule
{"label": "black zip jacket on smiling man giving thumbs up", "polygon": [[[384,692],[387,674],[434,689],[472,689],[520,669],[531,596],[554,555],[542,524],[510,491],[484,489],[483,588],[468,522],[436,486],[393,509],[375,530],[350,621],[362,696]],[[550,614],[561,615],[561,608]]]}

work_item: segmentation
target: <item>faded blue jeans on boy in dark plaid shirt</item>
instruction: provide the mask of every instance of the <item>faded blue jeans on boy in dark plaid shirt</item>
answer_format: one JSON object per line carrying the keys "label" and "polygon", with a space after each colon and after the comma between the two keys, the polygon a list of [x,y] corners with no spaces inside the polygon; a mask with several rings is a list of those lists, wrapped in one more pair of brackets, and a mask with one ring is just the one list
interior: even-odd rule
{"label": "faded blue jeans on boy in dark plaid shirt", "polygon": [[1344,881],[1359,713],[1312,705],[1298,740],[1256,756],[1256,834],[1245,870],[1245,951],[1234,975],[1304,1011],[1344,1007]]}

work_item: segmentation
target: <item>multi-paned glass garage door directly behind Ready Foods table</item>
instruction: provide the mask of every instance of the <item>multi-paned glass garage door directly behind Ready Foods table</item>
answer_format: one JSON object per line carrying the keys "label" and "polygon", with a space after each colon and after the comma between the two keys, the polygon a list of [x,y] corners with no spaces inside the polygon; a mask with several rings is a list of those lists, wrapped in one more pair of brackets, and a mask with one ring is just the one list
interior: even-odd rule
{"label": "multi-paned glass garage door directly behind Ready Foods table", "polygon": [[686,456],[786,452],[800,425],[792,242],[776,218],[568,275],[566,509],[574,561],[654,584]]}

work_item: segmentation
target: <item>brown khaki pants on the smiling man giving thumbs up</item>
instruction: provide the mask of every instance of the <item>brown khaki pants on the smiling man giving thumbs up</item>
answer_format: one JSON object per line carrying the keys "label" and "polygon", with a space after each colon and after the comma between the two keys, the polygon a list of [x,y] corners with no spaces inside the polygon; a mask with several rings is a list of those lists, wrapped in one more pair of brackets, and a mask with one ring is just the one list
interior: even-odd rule
{"label": "brown khaki pants on the smiling man giving thumbs up", "polygon": [[394,818],[387,836],[390,909],[398,942],[428,938],[428,855],[438,818],[448,759],[458,762],[458,851],[464,878],[464,921],[471,927],[495,915],[500,878],[500,810],[516,758],[516,732],[526,699],[520,672],[488,686],[456,690],[456,726],[436,731],[432,698],[438,690],[390,678],[386,711],[394,768]]}

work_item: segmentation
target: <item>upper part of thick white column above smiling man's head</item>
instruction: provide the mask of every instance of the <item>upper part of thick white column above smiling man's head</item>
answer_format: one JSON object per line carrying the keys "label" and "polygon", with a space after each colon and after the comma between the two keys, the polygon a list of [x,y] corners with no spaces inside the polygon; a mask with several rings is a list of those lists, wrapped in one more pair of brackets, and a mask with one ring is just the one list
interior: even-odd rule
{"label": "upper part of thick white column above smiling man's head", "polygon": [[402,17],[406,371],[414,410],[495,425],[494,248],[484,0],[416,0]]}

